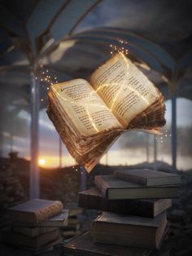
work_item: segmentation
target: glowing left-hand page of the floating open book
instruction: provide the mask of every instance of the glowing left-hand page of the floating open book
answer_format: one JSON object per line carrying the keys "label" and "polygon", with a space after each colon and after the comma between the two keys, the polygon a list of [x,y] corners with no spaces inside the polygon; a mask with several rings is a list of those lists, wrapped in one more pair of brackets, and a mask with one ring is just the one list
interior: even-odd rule
{"label": "glowing left-hand page of the floating open book", "polygon": [[55,84],[51,90],[81,135],[122,129],[120,122],[84,79]]}

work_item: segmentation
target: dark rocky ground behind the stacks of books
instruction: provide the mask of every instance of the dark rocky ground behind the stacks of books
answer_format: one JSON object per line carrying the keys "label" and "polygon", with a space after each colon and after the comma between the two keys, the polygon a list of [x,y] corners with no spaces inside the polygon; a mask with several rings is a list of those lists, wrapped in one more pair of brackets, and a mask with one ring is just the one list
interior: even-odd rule
{"label": "dark rocky ground behind the stacks of books", "polygon": [[[170,166],[159,162],[159,170],[170,171]],[[141,167],[134,166],[134,167]],[[143,164],[142,167],[151,167]],[[95,174],[111,174],[114,169],[125,168],[124,166],[96,166],[87,177],[87,188],[94,185]],[[131,166],[133,168],[133,166]],[[192,170],[181,172],[182,185],[179,197],[173,200],[172,208],[168,210],[169,232],[165,237],[162,248],[169,250],[172,256],[192,255]],[[80,190],[81,168],[73,166],[62,170],[41,169],[41,198],[68,202],[77,202],[77,194]],[[7,208],[28,199],[29,186],[29,163],[22,159],[0,161],[0,228],[7,225]],[[85,210],[81,215],[81,231],[89,230],[98,211]],[[3,245],[1,245],[3,246]],[[0,255],[2,254],[2,247]],[[13,251],[12,251],[13,252]],[[9,254],[11,254],[11,249]],[[15,254],[21,255],[20,253]],[[25,254],[24,254],[25,255]],[[26,254],[27,255],[27,254]],[[28,254],[29,255],[29,254]],[[48,254],[47,254],[48,255]],[[50,255],[57,255],[55,252]]]}

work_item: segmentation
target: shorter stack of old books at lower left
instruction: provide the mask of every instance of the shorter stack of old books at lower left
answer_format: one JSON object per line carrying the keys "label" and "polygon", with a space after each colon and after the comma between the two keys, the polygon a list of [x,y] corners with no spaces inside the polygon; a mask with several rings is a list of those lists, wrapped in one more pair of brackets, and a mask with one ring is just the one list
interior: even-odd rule
{"label": "shorter stack of old books at lower left", "polygon": [[33,199],[8,210],[12,227],[2,232],[2,242],[41,253],[61,242],[59,227],[68,221],[60,201]]}

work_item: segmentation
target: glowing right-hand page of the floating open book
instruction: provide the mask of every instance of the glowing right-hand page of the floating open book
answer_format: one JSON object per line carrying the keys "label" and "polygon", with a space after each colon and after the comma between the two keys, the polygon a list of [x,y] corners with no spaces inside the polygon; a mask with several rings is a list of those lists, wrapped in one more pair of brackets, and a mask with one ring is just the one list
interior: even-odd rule
{"label": "glowing right-hand page of the floating open book", "polygon": [[159,90],[121,53],[98,68],[90,83],[124,128],[159,98]]}

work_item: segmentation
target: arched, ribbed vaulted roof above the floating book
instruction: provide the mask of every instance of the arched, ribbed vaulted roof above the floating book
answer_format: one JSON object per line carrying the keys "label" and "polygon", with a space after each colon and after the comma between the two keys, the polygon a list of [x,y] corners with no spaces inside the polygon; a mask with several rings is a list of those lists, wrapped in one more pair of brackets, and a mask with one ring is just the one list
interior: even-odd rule
{"label": "arched, ribbed vaulted roof above the floating book", "polygon": [[60,79],[87,78],[110,57],[109,45],[124,40],[129,58],[167,98],[168,85],[177,85],[192,99],[190,1],[1,1],[0,13],[2,91],[20,91],[28,102],[36,60]]}

